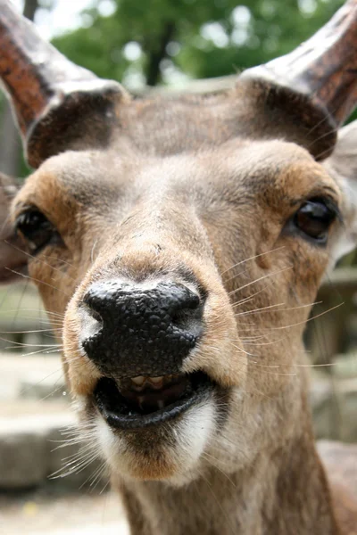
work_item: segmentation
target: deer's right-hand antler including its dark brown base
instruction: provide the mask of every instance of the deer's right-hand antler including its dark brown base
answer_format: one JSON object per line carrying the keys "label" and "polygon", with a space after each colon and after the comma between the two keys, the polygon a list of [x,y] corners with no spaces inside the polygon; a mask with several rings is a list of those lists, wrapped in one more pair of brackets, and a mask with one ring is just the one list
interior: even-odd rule
{"label": "deer's right-hand antler including its dark brown base", "polygon": [[356,49],[357,2],[348,0],[293,52],[245,70],[238,84],[248,84],[261,134],[275,132],[318,161],[328,158],[337,129],[357,103]]}

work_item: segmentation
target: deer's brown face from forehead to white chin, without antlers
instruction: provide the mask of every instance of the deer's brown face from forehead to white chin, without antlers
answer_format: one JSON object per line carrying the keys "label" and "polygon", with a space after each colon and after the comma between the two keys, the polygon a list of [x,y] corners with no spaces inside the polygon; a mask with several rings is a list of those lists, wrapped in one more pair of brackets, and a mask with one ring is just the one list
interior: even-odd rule
{"label": "deer's brown face from forehead to white chin, without antlers", "polygon": [[[87,147],[59,141],[12,201],[29,276],[64,317],[82,424],[122,477],[181,484],[217,451],[237,470],[295,429],[303,326],[354,211],[334,161],[314,159],[333,143],[329,127],[311,141],[318,111],[299,97],[285,124],[286,94],[266,91],[110,95],[104,146],[85,112]],[[32,160],[51,156],[31,128]]]}

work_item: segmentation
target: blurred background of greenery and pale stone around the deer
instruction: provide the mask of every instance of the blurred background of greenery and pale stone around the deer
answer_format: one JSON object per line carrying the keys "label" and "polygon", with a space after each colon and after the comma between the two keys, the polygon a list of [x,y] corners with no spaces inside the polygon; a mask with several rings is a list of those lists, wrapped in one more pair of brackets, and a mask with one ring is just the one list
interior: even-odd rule
{"label": "blurred background of greenery and pale stone around the deer", "polygon": [[[131,92],[206,92],[288,53],[341,0],[12,0],[73,62]],[[198,81],[197,81],[198,80]],[[201,80],[201,81],[200,81]],[[0,171],[26,177],[12,112],[0,92]],[[357,256],[326,279],[308,324],[311,407],[318,438],[357,442]],[[331,309],[325,314],[327,310]],[[61,330],[62,318],[54,322]],[[59,348],[37,292],[0,289],[0,532],[127,533],[103,466],[81,464]],[[70,434],[69,434],[70,433]],[[71,457],[72,456],[72,457]],[[63,475],[49,480],[51,473]],[[70,470],[71,472],[71,470]],[[91,527],[90,527],[91,526]],[[92,531],[91,531],[92,530]]]}

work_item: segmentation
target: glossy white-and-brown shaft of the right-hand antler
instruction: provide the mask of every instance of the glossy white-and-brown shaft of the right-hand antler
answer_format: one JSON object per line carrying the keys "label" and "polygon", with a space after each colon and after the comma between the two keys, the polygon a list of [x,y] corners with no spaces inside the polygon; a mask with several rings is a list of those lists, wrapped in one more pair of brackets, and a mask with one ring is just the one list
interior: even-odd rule
{"label": "glossy white-and-brown shaft of the right-hand antler", "polygon": [[[307,97],[325,116],[326,130],[338,128],[357,102],[357,0],[349,0],[308,41],[272,62],[246,70],[255,78]],[[305,114],[309,114],[308,107]],[[314,118],[316,113],[312,111]],[[326,134],[328,136],[328,134]],[[336,137],[330,139],[335,144]]]}

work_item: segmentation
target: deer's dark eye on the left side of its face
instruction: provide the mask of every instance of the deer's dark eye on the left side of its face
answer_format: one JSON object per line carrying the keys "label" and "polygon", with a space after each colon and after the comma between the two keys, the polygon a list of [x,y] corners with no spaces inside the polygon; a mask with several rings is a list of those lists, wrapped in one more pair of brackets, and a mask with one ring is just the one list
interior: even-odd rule
{"label": "deer's dark eye on the left side of its face", "polygon": [[15,226],[17,232],[27,241],[32,254],[39,252],[54,238],[59,238],[53,224],[38,210],[23,212],[17,218]]}

